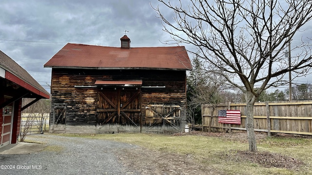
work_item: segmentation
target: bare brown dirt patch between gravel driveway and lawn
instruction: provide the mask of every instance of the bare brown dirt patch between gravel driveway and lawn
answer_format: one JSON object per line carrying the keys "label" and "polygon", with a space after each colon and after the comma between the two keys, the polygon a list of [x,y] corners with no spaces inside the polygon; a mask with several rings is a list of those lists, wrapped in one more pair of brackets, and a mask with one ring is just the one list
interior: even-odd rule
{"label": "bare brown dirt patch between gravel driveway and lawn", "polygon": [[192,155],[136,148],[116,153],[127,167],[142,175],[222,175],[215,169],[203,166]]}

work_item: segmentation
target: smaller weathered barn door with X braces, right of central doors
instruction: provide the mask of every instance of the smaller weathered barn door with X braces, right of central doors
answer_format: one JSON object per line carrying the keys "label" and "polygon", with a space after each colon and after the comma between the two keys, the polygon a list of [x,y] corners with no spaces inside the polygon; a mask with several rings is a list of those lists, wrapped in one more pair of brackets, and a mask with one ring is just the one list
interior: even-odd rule
{"label": "smaller weathered barn door with X braces, right of central doors", "polygon": [[150,104],[145,107],[147,132],[179,132],[179,105]]}

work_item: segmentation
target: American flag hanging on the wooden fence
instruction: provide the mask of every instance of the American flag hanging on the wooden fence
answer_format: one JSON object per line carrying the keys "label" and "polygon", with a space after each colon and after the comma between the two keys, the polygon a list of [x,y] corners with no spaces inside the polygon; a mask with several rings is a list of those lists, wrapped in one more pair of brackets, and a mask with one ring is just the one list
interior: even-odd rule
{"label": "American flag hanging on the wooden fence", "polygon": [[218,122],[241,124],[240,110],[218,110]]}

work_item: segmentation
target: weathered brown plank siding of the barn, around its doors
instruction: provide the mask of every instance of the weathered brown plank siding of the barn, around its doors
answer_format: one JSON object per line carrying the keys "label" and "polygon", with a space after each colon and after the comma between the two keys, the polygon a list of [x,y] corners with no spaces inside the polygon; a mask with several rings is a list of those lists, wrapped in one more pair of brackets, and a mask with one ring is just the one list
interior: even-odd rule
{"label": "weathered brown plank siding of the barn, around its doors", "polygon": [[97,88],[75,88],[94,86],[96,80],[143,80],[142,86],[165,86],[141,89],[143,113],[149,102],[179,102],[185,108],[185,79],[185,70],[52,69],[50,122],[54,104],[66,104],[66,124],[96,125]]}

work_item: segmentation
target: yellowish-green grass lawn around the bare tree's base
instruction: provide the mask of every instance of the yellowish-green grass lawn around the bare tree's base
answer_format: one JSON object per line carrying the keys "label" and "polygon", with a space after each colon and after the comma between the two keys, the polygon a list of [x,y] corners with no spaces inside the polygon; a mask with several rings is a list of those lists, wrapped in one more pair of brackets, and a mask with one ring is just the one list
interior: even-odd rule
{"label": "yellowish-green grass lawn around the bare tree's base", "polygon": [[[257,135],[257,155],[248,152],[245,133],[163,134],[63,134],[114,140],[149,150],[192,155],[195,161],[225,175],[311,175],[312,138]],[[257,160],[257,161],[253,161]],[[278,166],[274,166],[278,165]]]}

